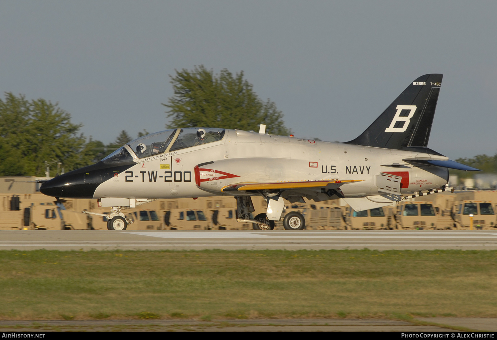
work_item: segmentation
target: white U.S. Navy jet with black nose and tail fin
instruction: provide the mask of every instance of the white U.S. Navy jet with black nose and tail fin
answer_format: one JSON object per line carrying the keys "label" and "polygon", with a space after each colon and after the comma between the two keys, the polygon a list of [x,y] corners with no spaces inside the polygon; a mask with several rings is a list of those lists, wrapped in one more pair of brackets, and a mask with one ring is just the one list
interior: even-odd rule
{"label": "white U.S. Navy jet with black nose and tail fin", "polygon": [[[237,221],[268,230],[279,221],[283,199],[315,202],[342,198],[355,211],[395,205],[447,190],[448,169],[478,171],[429,149],[441,74],[417,78],[357,138],[345,143],[217,128],[177,128],[149,134],[102,161],[45,182],[49,196],[98,199],[111,207],[109,230],[132,221],[123,209],[164,198],[230,195]],[[330,120],[332,123],[332,120]],[[267,200],[254,218],[250,196]],[[287,230],[305,228],[298,212]]]}

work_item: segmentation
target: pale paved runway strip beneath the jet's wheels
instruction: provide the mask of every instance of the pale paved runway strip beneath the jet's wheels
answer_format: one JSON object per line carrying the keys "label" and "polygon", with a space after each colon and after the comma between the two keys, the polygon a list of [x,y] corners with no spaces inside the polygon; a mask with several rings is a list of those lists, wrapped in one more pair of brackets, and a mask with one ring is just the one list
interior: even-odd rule
{"label": "pale paved runway strip beneath the jet's wheels", "polygon": [[497,231],[0,231],[0,250],[495,250]]}

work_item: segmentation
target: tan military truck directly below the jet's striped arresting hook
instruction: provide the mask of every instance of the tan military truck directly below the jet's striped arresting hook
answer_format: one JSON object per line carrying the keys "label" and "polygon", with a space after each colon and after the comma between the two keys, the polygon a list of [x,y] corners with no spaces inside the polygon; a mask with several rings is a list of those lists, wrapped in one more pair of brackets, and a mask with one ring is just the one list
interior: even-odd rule
{"label": "tan military truck directly below the jet's striped arresting hook", "polygon": [[401,202],[394,217],[394,229],[445,230],[453,225],[450,214],[429,201]]}

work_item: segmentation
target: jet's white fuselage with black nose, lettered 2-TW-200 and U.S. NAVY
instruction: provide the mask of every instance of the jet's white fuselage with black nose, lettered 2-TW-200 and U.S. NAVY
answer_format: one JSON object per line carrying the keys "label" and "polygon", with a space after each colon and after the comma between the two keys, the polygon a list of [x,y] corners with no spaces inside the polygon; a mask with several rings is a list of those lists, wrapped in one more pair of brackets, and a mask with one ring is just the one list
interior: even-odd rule
{"label": "jet's white fuselage with black nose, lettered 2-TW-200 and U.S. NAVY", "polygon": [[[233,195],[223,192],[233,183],[338,179],[360,180],[340,189],[345,197],[363,197],[381,193],[380,172],[401,176],[402,193],[440,188],[448,180],[446,168],[402,161],[443,156],[242,130],[211,129],[218,140],[198,143],[188,137],[193,129],[139,138],[97,164],[49,180],[40,191],[67,198],[186,198]],[[140,146],[149,154],[139,154]]]}

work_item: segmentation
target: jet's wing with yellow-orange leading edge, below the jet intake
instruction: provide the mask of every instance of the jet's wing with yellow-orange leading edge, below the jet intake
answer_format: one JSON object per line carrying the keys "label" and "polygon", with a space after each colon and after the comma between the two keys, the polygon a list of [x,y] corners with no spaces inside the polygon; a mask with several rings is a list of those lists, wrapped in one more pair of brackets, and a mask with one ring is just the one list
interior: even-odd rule
{"label": "jet's wing with yellow-orange leading edge, below the jet intake", "polygon": [[247,190],[267,190],[267,189],[303,189],[314,188],[320,186],[328,186],[331,184],[341,184],[349,182],[360,182],[360,179],[345,179],[345,180],[306,180],[306,181],[285,181],[285,182],[242,182],[226,185],[221,191],[247,191]]}

